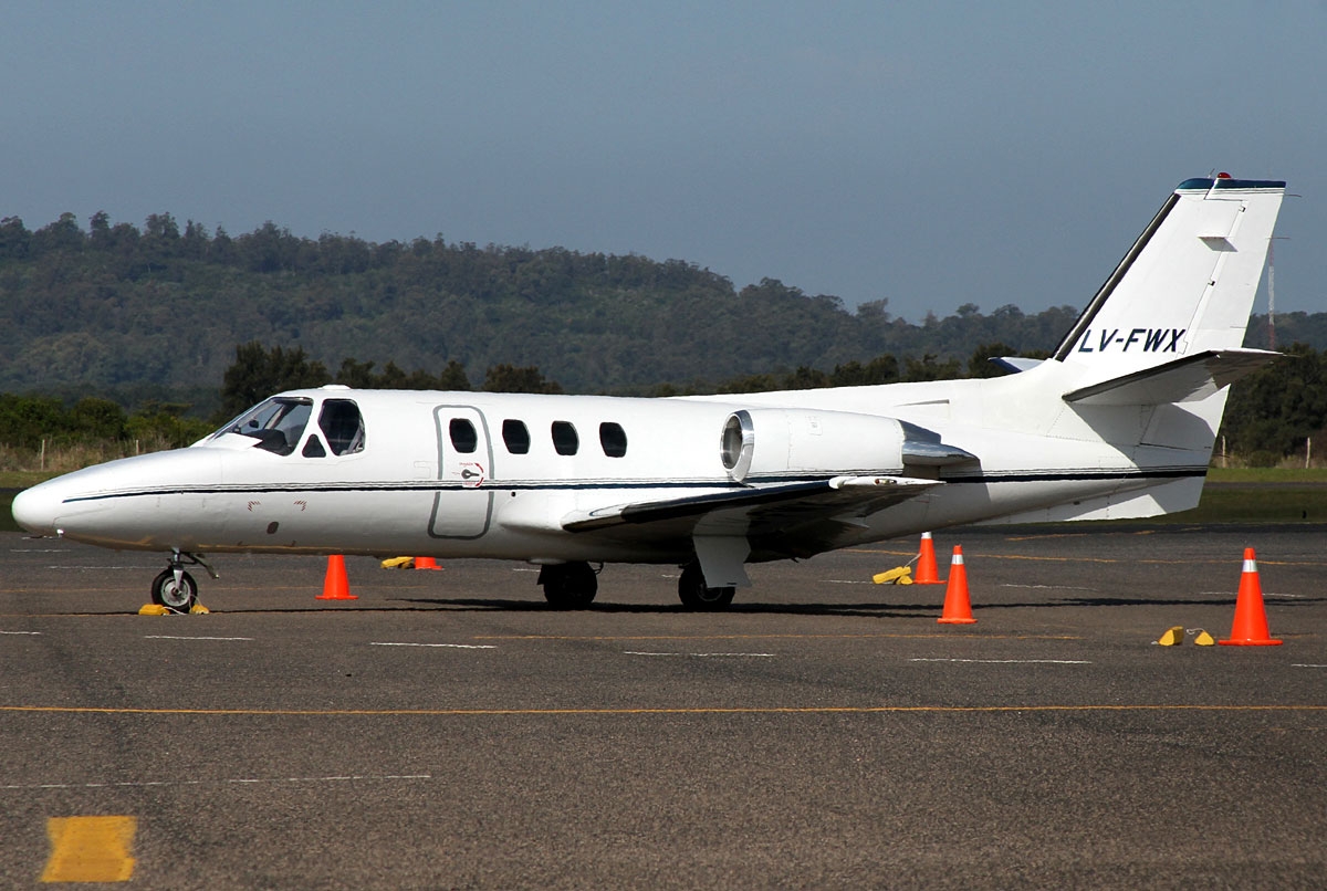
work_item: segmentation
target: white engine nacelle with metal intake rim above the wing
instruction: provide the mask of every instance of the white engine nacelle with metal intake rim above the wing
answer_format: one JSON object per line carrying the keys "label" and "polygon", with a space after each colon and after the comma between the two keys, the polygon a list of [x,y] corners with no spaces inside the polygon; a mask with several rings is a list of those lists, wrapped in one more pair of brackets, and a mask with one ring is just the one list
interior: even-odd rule
{"label": "white engine nacelle with metal intake rim above the wing", "polygon": [[807,471],[852,476],[904,471],[908,432],[893,418],[813,408],[743,408],[723,423],[719,457],[729,476]]}

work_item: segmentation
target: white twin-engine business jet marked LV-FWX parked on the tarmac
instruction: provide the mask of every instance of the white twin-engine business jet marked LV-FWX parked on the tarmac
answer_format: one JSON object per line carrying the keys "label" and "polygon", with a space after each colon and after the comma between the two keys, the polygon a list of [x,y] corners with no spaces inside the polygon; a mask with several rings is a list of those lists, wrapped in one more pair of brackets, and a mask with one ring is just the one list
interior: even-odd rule
{"label": "white twin-engine business jet marked LV-FWX parked on the tarmac", "polygon": [[187,611],[204,554],[502,558],[561,609],[612,562],[682,567],[721,610],[746,564],[977,522],[1193,508],[1285,195],[1186,179],[1054,355],[989,379],[671,398],[350,390],[265,399],[187,448],[21,492],[37,536],[159,550]]}

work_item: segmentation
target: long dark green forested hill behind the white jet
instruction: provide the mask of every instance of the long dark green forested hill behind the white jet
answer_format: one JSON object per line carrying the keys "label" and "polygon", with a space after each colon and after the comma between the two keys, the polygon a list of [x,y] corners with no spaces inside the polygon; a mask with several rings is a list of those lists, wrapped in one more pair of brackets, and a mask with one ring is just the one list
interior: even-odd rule
{"label": "long dark green forested hill behind the white jet", "polygon": [[[511,363],[537,366],[568,392],[630,392],[885,353],[966,362],[993,342],[1035,353],[1054,349],[1076,314],[967,304],[909,324],[884,301],[851,313],[772,280],[736,290],[678,260],[441,236],[313,240],[272,223],[231,236],[182,229],[169,213],[142,229],[106,213],[88,229],[70,213],[36,231],[0,220],[0,392],[215,392],[236,345],[251,341],[301,346],[333,369],[354,358],[438,373],[458,361],[479,379]],[[1299,316],[1278,320],[1282,342],[1327,345],[1327,316]]]}

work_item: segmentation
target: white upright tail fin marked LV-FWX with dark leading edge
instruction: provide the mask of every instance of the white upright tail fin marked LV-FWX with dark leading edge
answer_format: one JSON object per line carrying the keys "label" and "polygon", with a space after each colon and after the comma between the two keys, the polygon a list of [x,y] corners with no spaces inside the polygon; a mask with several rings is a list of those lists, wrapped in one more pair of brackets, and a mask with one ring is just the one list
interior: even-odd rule
{"label": "white upright tail fin marked LV-FWX with dark leading edge", "polygon": [[1285,191],[1227,174],[1180,183],[1055,358],[1091,386],[1238,350]]}

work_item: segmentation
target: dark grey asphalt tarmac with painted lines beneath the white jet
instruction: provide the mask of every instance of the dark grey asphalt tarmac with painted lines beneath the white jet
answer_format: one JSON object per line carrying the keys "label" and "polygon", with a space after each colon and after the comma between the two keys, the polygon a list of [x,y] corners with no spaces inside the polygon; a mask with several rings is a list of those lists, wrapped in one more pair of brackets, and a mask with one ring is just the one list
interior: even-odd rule
{"label": "dark grey asphalt tarmac with painted lines beneath the white jet", "polygon": [[[1323,887],[1327,526],[963,529],[751,567],[161,556],[0,534],[0,884]],[[1245,546],[1279,647],[1225,638]],[[1170,626],[1185,643],[1154,642]],[[89,819],[101,818],[101,819]]]}

